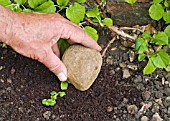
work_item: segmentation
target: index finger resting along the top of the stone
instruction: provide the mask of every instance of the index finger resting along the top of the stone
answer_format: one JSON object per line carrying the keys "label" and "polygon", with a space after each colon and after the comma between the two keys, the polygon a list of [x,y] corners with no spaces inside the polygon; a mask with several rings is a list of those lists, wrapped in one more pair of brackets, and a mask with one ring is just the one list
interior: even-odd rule
{"label": "index finger resting along the top of the stone", "polygon": [[101,51],[101,47],[82,28],[72,22],[66,22],[63,26],[61,38],[69,39],[72,42],[80,43],[86,47]]}

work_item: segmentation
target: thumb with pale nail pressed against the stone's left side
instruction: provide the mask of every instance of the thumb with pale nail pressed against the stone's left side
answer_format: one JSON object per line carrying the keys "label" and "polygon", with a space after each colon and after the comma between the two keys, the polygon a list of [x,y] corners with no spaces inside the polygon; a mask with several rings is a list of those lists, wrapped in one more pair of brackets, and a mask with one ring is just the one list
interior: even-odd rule
{"label": "thumb with pale nail pressed against the stone's left side", "polygon": [[60,81],[67,80],[67,69],[62,61],[49,49],[45,59],[41,61],[46,67],[52,71]]}

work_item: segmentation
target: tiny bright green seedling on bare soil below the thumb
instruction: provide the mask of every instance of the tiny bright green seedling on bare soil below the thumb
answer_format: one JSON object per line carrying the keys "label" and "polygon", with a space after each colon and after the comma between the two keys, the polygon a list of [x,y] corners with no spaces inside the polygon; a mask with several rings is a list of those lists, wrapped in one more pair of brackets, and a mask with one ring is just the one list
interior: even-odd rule
{"label": "tiny bright green seedling on bare soil below the thumb", "polygon": [[[67,82],[61,82],[60,87],[61,87],[61,90],[67,90],[68,83]],[[50,98],[49,99],[43,99],[41,102],[45,106],[55,106],[57,97],[58,96],[64,97],[65,95],[66,95],[66,93],[63,92],[63,91],[60,91],[60,92],[51,91],[50,92]]]}

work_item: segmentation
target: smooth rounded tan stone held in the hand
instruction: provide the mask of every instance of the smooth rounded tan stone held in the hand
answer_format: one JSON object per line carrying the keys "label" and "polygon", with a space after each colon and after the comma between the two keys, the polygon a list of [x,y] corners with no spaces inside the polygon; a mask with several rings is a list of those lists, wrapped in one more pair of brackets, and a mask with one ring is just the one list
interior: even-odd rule
{"label": "smooth rounded tan stone held in the hand", "polygon": [[81,45],[70,46],[62,61],[67,68],[68,82],[81,91],[90,88],[102,66],[100,52]]}

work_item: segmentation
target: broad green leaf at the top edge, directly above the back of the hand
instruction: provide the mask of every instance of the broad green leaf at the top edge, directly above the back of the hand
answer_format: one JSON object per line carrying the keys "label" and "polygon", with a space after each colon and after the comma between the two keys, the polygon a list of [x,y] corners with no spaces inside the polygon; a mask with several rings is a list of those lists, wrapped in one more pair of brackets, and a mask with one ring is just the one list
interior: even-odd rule
{"label": "broad green leaf at the top edge, directly above the back of the hand", "polygon": [[54,6],[54,2],[49,0],[41,4],[40,6],[36,7],[34,11],[43,13],[54,13],[56,11],[56,7]]}

